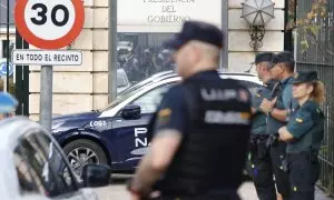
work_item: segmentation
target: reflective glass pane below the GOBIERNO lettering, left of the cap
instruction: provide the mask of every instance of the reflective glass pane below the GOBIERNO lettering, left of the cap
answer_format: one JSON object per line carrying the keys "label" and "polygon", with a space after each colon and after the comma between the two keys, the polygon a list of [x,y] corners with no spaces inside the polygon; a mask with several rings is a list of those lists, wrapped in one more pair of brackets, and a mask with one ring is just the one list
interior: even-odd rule
{"label": "reflective glass pane below the GOBIERNO lettering, left of the cap", "polygon": [[173,33],[118,33],[118,64],[125,70],[129,82],[136,83],[150,76],[174,70],[171,51],[163,48],[163,42]]}

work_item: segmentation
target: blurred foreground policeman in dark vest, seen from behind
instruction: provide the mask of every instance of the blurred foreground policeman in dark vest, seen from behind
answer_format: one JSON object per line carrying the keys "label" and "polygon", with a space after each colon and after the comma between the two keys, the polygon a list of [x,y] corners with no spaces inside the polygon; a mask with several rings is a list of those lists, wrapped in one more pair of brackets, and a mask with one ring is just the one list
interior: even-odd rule
{"label": "blurred foreground policeman in dark vest, seen from behind", "polygon": [[132,199],[158,190],[155,199],[238,200],[250,134],[250,93],[217,72],[223,33],[215,26],[187,21],[166,46],[175,50],[183,81],[164,97],[150,149],[128,190]]}

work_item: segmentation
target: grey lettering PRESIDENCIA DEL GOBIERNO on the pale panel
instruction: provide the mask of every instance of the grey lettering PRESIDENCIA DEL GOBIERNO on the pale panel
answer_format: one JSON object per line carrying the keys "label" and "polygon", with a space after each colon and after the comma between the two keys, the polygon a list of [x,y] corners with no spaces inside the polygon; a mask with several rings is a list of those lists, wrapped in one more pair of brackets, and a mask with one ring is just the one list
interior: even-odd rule
{"label": "grey lettering PRESIDENCIA DEL GOBIERNO on the pale panel", "polygon": [[148,16],[149,23],[183,23],[191,20],[189,16],[184,16],[178,11],[178,7],[187,7],[189,3],[195,3],[195,0],[144,0],[145,3],[160,3],[161,14]]}

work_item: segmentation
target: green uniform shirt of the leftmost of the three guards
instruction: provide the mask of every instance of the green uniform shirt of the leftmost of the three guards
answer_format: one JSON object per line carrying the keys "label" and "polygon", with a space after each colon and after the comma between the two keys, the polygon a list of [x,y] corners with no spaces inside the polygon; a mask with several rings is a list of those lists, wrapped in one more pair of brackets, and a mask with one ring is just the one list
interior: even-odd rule
{"label": "green uniform shirt of the leftmost of the three guards", "polygon": [[259,110],[259,106],[263,99],[272,99],[272,90],[276,81],[269,80],[266,84],[261,87],[254,94],[252,107],[256,109],[256,113],[253,116],[252,133],[265,134],[266,133],[266,118],[267,116]]}

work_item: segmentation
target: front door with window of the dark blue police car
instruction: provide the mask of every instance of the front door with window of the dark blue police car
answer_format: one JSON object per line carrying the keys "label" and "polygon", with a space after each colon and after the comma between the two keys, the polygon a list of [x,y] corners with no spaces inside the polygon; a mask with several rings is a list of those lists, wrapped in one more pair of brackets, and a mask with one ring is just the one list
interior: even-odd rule
{"label": "front door with window of the dark blue police car", "polygon": [[134,169],[149,146],[146,137],[147,124],[159,106],[164,93],[173,83],[156,87],[139,96],[128,104],[140,107],[139,119],[124,119],[120,113],[112,121],[112,132],[117,136],[119,167]]}

